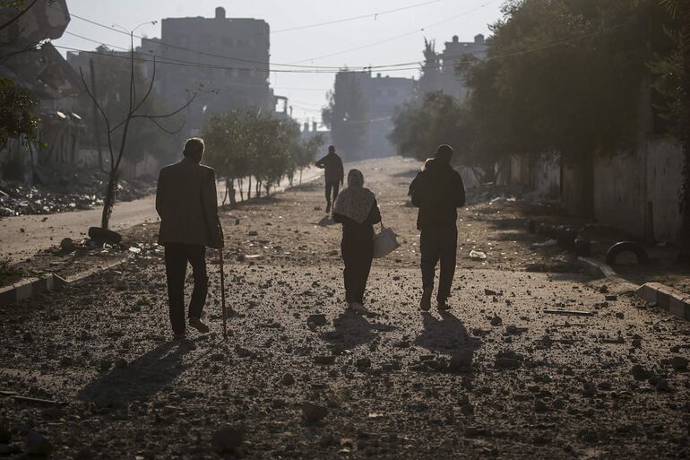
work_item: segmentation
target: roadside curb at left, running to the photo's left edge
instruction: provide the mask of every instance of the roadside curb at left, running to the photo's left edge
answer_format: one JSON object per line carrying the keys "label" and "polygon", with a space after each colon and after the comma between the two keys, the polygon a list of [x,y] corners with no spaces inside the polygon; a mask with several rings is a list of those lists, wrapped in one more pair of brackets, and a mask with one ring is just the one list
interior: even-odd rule
{"label": "roadside curb at left, running to the photo's left edge", "polygon": [[80,282],[96,273],[105,272],[116,266],[125,264],[128,259],[118,259],[104,265],[99,265],[82,273],[69,276],[66,279],[55,274],[48,273],[39,278],[28,278],[20,282],[15,282],[9,286],[0,288],[0,306],[8,306],[21,302],[22,300],[32,299],[45,292],[61,291],[75,282]]}

